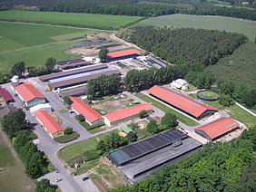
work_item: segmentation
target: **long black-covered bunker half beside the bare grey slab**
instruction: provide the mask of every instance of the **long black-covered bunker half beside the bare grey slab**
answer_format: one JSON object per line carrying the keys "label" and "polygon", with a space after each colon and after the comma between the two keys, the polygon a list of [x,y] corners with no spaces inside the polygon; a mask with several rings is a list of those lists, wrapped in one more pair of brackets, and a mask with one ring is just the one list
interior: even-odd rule
{"label": "long black-covered bunker half beside the bare grey slab", "polygon": [[180,130],[167,130],[161,134],[153,136],[149,139],[144,139],[135,144],[124,147],[122,150],[125,153],[125,156],[129,158],[123,158],[122,153],[113,151],[108,158],[116,163],[117,165],[122,165],[125,162],[128,162],[134,158],[142,157],[150,152],[153,152],[157,149],[162,149],[168,145],[171,145],[172,142],[175,142],[180,139],[185,139],[188,136]]}

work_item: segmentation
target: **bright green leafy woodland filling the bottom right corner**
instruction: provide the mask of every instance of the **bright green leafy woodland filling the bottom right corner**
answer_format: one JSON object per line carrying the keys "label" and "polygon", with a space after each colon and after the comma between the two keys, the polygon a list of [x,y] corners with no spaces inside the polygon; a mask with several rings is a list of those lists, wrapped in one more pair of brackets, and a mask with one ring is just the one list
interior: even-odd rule
{"label": "bright green leafy woodland filling the bottom right corner", "polygon": [[255,191],[255,144],[256,127],[229,142],[207,143],[144,181],[112,191]]}

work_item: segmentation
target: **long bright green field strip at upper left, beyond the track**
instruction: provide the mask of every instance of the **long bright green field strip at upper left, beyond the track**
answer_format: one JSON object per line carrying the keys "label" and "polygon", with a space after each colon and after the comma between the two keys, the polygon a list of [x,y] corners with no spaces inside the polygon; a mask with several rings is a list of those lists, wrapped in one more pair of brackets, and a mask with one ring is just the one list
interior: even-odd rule
{"label": "long bright green field strip at upper left, beyond the track", "polygon": [[143,19],[143,17],[109,14],[74,14],[17,10],[0,12],[0,20],[4,21],[60,24],[96,29],[119,29],[127,24],[136,23],[141,19]]}

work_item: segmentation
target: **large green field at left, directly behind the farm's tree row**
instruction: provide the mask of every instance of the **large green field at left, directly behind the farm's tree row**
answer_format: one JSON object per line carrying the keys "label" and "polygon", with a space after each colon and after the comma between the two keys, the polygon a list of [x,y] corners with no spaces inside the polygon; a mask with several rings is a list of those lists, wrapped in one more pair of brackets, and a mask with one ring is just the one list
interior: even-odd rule
{"label": "large green field at left, directly behind the farm's tree row", "polygon": [[84,34],[100,31],[35,24],[8,24],[0,22],[0,71],[8,72],[15,62],[26,66],[44,65],[48,57],[57,61],[70,59],[75,54],[65,53],[74,43],[66,41]]}

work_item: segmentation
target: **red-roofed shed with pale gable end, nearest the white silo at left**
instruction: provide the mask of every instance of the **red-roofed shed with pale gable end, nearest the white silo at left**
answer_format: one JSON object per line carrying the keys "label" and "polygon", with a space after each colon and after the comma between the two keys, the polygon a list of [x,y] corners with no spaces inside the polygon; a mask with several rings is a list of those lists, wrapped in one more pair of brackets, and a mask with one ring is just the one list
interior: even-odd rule
{"label": "red-roofed shed with pale gable end, nearest the white silo at left", "polygon": [[21,84],[15,87],[15,92],[28,108],[46,102],[44,95],[33,84]]}

